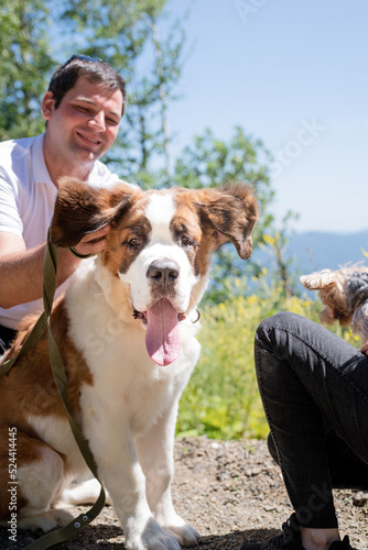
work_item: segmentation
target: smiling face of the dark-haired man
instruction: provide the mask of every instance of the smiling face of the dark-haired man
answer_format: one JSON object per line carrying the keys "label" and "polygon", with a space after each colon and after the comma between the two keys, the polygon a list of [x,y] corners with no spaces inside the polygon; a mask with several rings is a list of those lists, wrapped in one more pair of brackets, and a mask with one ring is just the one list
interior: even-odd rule
{"label": "smiling face of the dark-haired man", "polygon": [[91,163],[102,156],[115,142],[122,111],[122,94],[80,77],[62,99],[57,109],[47,92],[42,111],[47,122],[46,141],[55,157]]}

